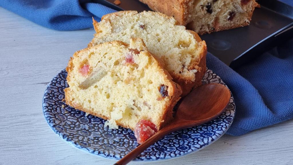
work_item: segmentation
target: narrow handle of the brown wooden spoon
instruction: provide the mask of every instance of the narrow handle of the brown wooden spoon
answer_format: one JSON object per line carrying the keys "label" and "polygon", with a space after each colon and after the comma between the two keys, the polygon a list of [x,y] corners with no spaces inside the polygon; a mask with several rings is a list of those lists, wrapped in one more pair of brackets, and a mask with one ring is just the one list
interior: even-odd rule
{"label": "narrow handle of the brown wooden spoon", "polygon": [[166,134],[175,131],[176,129],[170,129],[167,127],[164,127],[163,129],[159,130],[157,133],[155,133],[152,137],[147,139],[147,141],[143,142],[139,146],[137,146],[134,150],[132,150],[130,153],[125,155],[122,159],[117,161],[114,165],[125,165],[132,161],[134,158],[136,158],[140,153],[142,153],[144,150],[146,150],[149,146],[154,144],[155,142],[162,139]]}

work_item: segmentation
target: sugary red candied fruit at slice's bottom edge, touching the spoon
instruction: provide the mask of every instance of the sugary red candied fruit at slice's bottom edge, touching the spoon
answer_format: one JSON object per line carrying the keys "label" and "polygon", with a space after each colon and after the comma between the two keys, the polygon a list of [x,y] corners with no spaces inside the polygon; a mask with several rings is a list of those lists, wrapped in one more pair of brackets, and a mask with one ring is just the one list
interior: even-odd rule
{"label": "sugary red candied fruit at slice's bottom edge, touching the spoon", "polygon": [[151,136],[153,136],[158,130],[154,123],[149,120],[142,119],[140,120],[134,129],[134,136],[137,139],[138,144],[142,144]]}

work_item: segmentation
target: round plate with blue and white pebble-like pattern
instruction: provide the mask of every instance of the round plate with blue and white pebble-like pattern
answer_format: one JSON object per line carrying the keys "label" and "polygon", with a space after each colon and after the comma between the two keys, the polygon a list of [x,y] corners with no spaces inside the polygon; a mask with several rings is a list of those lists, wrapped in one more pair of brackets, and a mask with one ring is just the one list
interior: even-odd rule
{"label": "round plate with blue and white pebble-like pattern", "polygon": [[[64,103],[63,89],[68,87],[67,72],[62,70],[48,85],[43,97],[43,112],[51,129],[76,148],[90,154],[118,160],[137,147],[137,141],[130,129],[105,129],[104,119],[87,115]],[[225,83],[212,70],[202,83]],[[235,114],[231,95],[227,110],[211,122],[168,134],[151,145],[134,161],[156,161],[190,154],[207,147],[219,139],[230,127]]]}

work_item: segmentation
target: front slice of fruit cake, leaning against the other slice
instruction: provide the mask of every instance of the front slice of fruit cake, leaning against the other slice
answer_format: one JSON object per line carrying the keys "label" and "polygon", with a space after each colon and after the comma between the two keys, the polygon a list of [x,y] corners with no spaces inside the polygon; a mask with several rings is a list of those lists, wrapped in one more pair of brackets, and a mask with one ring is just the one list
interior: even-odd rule
{"label": "front slice of fruit cake, leaning against the other slice", "polygon": [[146,120],[159,130],[173,118],[182,93],[163,65],[138,38],[130,46],[112,41],[80,50],[66,68],[66,103],[107,119],[110,128],[134,130]]}

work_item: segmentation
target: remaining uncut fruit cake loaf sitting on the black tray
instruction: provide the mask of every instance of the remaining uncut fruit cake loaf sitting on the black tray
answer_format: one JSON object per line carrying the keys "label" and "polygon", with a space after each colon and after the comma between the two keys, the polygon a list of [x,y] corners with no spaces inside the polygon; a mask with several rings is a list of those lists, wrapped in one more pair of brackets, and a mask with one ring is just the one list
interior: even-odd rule
{"label": "remaining uncut fruit cake loaf sitting on the black tray", "polygon": [[152,10],[174,16],[199,33],[247,26],[258,5],[255,0],[139,0]]}

